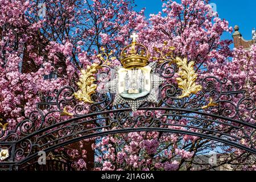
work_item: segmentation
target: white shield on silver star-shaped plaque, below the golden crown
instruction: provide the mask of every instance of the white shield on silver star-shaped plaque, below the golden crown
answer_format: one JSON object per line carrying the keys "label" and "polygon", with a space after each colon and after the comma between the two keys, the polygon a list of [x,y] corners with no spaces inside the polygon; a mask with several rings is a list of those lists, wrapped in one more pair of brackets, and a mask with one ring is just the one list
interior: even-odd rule
{"label": "white shield on silver star-shaped plaque, below the golden crown", "polygon": [[137,69],[117,68],[115,79],[109,83],[115,93],[113,105],[128,104],[136,111],[144,102],[156,102],[164,79],[156,75],[155,67],[156,63],[150,63]]}

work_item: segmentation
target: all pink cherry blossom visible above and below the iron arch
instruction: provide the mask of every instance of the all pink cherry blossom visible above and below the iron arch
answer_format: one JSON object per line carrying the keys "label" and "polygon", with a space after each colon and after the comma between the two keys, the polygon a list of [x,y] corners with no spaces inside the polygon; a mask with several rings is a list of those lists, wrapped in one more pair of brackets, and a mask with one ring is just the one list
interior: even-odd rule
{"label": "all pink cherry blossom visible above and below the iron arch", "polygon": [[[222,40],[221,35],[232,28],[212,13],[206,0],[164,1],[163,10],[149,19],[144,10],[134,11],[130,0],[0,0],[0,5],[0,117],[10,130],[36,109],[44,94],[77,86],[80,70],[100,61],[102,47],[119,57],[133,31],[138,32],[138,42],[148,47],[150,61],[158,54],[155,48],[175,47],[174,56],[195,61],[200,78],[228,77],[255,97],[255,46],[250,51],[230,50],[232,41]],[[110,63],[117,65],[117,59]],[[92,144],[95,170],[192,170],[197,155],[216,147],[228,155],[220,165],[256,167],[247,152],[208,139],[158,132],[82,140],[56,152],[61,151],[76,169],[88,169],[86,143]]]}

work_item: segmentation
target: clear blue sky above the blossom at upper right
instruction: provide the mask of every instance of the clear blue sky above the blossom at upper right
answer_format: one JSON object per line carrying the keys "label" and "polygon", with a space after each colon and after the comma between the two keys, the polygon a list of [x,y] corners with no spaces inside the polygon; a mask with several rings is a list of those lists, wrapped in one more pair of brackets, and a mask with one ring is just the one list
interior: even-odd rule
{"label": "clear blue sky above the blossom at upper right", "polygon": [[[177,0],[180,2],[180,0]],[[236,24],[240,27],[240,32],[246,40],[251,39],[251,30],[256,28],[255,0],[212,0],[210,3],[216,3],[217,12],[222,19],[228,20],[230,26]],[[156,14],[162,10],[161,0],[135,0],[138,5],[137,10],[146,7],[146,15]],[[222,39],[232,39],[231,34],[224,34]]]}

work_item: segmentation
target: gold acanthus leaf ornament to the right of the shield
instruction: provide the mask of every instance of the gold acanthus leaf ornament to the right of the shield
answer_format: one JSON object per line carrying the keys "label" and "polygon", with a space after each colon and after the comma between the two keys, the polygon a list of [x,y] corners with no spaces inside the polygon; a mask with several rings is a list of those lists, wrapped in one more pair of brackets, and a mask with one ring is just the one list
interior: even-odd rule
{"label": "gold acanthus leaf ornament to the right of the shield", "polygon": [[190,94],[196,94],[202,89],[201,85],[196,84],[197,74],[193,68],[195,62],[190,61],[186,58],[181,59],[180,57],[176,57],[175,60],[177,66],[180,68],[179,76],[176,78],[177,84],[180,89],[183,90],[181,96],[179,98],[189,97]]}

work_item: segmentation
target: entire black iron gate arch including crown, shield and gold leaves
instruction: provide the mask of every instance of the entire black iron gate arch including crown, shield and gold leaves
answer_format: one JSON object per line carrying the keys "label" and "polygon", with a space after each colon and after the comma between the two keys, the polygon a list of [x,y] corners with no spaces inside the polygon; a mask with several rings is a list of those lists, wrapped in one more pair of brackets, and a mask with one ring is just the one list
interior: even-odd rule
{"label": "entire black iron gate arch including crown, shield and gold leaves", "polygon": [[[170,48],[156,49],[158,61],[148,63],[147,48],[132,37],[114,79],[105,64],[112,52],[104,52],[100,64],[81,71],[76,88],[47,93],[13,130],[0,125],[0,170],[22,169],[41,150],[49,154],[82,139],[137,131],[192,135],[256,154],[255,98],[226,78],[197,80],[194,62],[173,58]],[[101,73],[111,92],[96,92]],[[175,73],[179,77],[172,83]]]}

